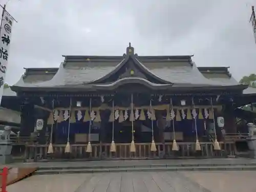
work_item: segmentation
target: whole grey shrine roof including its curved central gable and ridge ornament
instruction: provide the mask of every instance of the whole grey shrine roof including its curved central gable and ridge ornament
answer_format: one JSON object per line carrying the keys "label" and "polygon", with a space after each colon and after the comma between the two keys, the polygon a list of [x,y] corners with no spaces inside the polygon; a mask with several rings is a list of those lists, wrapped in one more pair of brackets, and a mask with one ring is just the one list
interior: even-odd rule
{"label": "whole grey shrine roof including its curved central gable and ridge ornament", "polygon": [[[119,73],[133,62],[138,70],[155,79],[155,82],[142,80],[151,86],[168,85],[169,87],[226,87],[239,86],[238,82],[220,82],[204,76],[191,60],[191,56],[138,56],[134,54],[134,48],[126,48],[123,56],[65,56],[64,62],[59,68],[26,69],[25,75],[14,84],[12,90],[34,90],[41,88],[83,88],[91,89],[114,86],[117,82],[106,80]],[[57,72],[56,72],[57,71]],[[204,71],[204,69],[202,69]],[[40,74],[40,75],[39,75]],[[33,80],[32,80],[33,79]],[[111,78],[110,78],[111,79]],[[129,78],[125,78],[125,82]],[[118,80],[118,79],[116,79]],[[118,82],[124,82],[119,80]],[[132,80],[132,79],[130,79]],[[133,77],[135,80],[135,77]],[[157,83],[156,83],[157,82]],[[241,85],[239,86],[241,89]],[[244,87],[245,88],[245,87]]]}

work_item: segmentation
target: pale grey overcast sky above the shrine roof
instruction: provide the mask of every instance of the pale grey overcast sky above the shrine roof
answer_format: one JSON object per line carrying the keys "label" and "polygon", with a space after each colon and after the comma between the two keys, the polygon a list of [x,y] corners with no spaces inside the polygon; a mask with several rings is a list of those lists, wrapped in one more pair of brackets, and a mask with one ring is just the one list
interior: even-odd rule
{"label": "pale grey overcast sky above the shrine roof", "polygon": [[[7,0],[1,0],[3,5]],[[120,3],[123,2],[123,3]],[[197,66],[256,73],[249,23],[256,0],[10,0],[7,82],[23,68],[59,67],[61,55],[192,55]]]}

